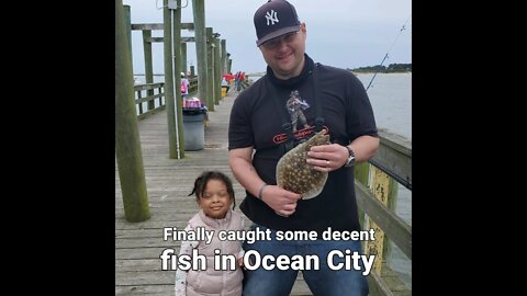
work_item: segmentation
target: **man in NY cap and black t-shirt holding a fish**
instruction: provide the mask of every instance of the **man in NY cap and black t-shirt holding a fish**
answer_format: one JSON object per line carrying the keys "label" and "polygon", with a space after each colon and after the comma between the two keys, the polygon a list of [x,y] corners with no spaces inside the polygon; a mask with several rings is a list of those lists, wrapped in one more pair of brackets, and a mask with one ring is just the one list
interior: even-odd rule
{"label": "man in NY cap and black t-shirt holding a fish", "polygon": [[[261,257],[316,255],[319,267],[302,271],[314,295],[368,295],[363,269],[332,269],[326,260],[332,250],[361,253],[360,241],[322,238],[329,227],[333,231],[360,230],[354,162],[367,161],[379,147],[368,95],[354,73],[315,65],[304,53],[306,25],[289,2],[265,3],[256,11],[254,22],[267,75],[242,92],[233,105],[228,161],[246,189],[240,209],[253,220],[251,230],[270,231],[271,239],[245,243],[244,249],[256,250]],[[291,122],[284,122],[291,121],[287,101],[293,91],[309,106],[303,110],[309,127],[299,126],[295,133]],[[307,163],[329,172],[328,179],[319,195],[302,200],[300,194],[276,185],[277,162],[291,144],[322,128],[327,129],[333,144],[312,147]],[[277,231],[288,230],[316,231],[317,239],[277,239]],[[292,267],[247,269],[244,295],[290,295],[296,275]]]}

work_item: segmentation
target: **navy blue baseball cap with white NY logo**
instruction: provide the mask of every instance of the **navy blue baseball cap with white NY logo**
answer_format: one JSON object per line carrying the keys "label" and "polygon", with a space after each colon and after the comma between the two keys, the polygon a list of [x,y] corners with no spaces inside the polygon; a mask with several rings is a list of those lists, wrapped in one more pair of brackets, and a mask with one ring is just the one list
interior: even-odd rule
{"label": "navy blue baseball cap with white NY logo", "polygon": [[300,30],[299,15],[285,0],[269,0],[255,12],[256,46]]}

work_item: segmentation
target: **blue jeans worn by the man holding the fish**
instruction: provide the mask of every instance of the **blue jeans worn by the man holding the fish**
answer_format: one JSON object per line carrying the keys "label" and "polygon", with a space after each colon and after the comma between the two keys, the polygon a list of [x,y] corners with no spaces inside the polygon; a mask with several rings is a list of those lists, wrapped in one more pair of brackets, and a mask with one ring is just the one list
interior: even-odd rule
{"label": "blue jeans worn by the man holding the fish", "polygon": [[[251,226],[250,230],[255,230],[256,227],[259,227],[260,230],[266,231],[264,226]],[[265,255],[272,255],[274,259],[278,255],[287,255],[290,259],[298,254],[301,257],[305,255],[317,255],[319,262],[318,270],[302,270],[304,280],[310,287],[313,295],[317,296],[362,296],[368,295],[368,281],[366,276],[362,275],[365,271],[363,265],[361,264],[361,270],[356,271],[354,269],[339,269],[332,270],[327,265],[326,258],[329,251],[332,250],[341,250],[344,254],[345,250],[349,249],[351,252],[357,251],[360,254],[361,246],[360,241],[346,240],[346,241],[335,241],[335,240],[323,240],[318,238],[317,240],[302,240],[302,241],[291,241],[282,240],[278,241],[276,239],[276,230],[271,229],[271,240],[257,240],[254,243],[244,242],[244,250],[247,252],[249,250],[256,250],[260,254],[260,259]],[[251,257],[248,257],[249,260]],[[333,257],[334,264],[339,262],[345,262],[345,258]],[[293,259],[294,260],[294,259]],[[270,263],[276,263],[271,261]],[[306,267],[306,266],[304,266]],[[274,266],[271,270],[265,270],[261,264],[258,269],[250,271],[244,271],[244,293],[245,296],[289,296],[293,287],[294,281],[296,280],[299,271],[294,269],[279,270]]]}

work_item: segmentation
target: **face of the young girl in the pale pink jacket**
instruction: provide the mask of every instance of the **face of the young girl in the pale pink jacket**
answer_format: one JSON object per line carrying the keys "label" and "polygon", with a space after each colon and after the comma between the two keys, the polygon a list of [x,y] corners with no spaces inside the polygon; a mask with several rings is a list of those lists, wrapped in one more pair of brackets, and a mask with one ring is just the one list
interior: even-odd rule
{"label": "face of the young girl in the pale pink jacket", "polygon": [[227,192],[227,186],[220,180],[209,180],[199,198],[198,205],[203,209],[206,216],[215,219],[223,219],[227,214],[233,200]]}

